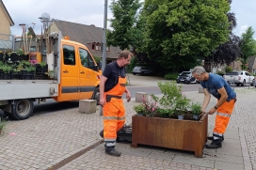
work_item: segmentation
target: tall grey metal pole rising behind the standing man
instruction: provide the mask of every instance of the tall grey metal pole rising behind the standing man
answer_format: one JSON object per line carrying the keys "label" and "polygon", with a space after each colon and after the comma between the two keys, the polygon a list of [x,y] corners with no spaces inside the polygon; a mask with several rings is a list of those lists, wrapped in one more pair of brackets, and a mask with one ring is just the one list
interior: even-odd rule
{"label": "tall grey metal pole rising behind the standing man", "polygon": [[[104,0],[104,49],[103,49],[103,61],[102,61],[102,71],[104,72],[105,67],[105,51],[106,51],[106,20],[107,20],[107,0]],[[103,116],[103,107],[100,109],[100,116]]]}

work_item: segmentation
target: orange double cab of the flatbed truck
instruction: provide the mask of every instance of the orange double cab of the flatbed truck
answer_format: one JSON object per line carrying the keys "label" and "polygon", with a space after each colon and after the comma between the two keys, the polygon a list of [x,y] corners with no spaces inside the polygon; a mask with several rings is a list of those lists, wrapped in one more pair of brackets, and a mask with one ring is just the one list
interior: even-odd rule
{"label": "orange double cab of the flatbed truck", "polygon": [[61,40],[57,101],[99,100],[100,68],[88,48],[78,42]]}

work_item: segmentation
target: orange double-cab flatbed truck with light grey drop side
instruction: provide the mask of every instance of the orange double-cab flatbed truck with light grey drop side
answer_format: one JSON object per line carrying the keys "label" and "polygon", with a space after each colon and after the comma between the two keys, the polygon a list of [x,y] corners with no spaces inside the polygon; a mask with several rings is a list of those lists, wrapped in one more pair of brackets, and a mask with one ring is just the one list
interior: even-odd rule
{"label": "orange double-cab flatbed truck with light grey drop side", "polygon": [[52,37],[52,54],[47,54],[52,80],[0,80],[0,109],[14,119],[33,114],[34,102],[100,99],[102,71],[88,51],[78,42]]}

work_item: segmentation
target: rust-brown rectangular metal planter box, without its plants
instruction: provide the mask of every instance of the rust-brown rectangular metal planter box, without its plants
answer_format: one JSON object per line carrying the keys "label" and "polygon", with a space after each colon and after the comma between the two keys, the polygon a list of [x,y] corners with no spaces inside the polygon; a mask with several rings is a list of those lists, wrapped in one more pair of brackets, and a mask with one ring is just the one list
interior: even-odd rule
{"label": "rust-brown rectangular metal planter box, without its plants", "polygon": [[188,150],[201,158],[207,141],[208,116],[202,121],[133,116],[132,127],[132,147],[142,144]]}

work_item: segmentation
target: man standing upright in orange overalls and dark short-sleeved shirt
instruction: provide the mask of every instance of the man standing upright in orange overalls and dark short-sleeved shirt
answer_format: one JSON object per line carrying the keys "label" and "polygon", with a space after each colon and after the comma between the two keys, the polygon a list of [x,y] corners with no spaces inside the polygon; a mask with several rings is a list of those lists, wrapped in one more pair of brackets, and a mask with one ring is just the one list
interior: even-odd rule
{"label": "man standing upright in orange overalls and dark short-sleeved shirt", "polygon": [[117,131],[125,122],[125,109],[122,94],[126,93],[126,100],[131,100],[131,94],[126,88],[126,75],[124,67],[130,64],[133,54],[129,51],[122,51],[118,60],[108,64],[103,72],[100,83],[100,104],[104,112],[104,131],[100,134],[104,136],[105,153],[112,156],[120,156],[120,152],[115,149]]}

